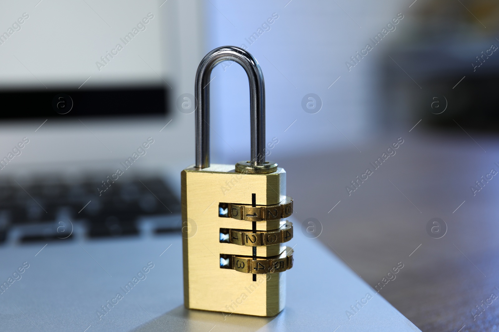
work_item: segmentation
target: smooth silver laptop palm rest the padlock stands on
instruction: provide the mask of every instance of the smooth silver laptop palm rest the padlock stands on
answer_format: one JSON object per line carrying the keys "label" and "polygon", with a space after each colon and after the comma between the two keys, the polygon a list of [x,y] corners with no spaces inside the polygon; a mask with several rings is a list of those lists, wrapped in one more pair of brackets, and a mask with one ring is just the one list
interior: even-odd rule
{"label": "smooth silver laptop palm rest the padlock stands on", "polygon": [[[297,230],[290,243],[296,245],[295,263],[285,272],[286,308],[275,318],[184,309],[180,234],[49,243],[41,251],[41,244],[3,247],[2,276],[24,261],[29,267],[0,294],[1,330],[419,331],[317,239]],[[120,287],[148,262],[154,267],[147,277],[124,294]],[[118,292],[123,298],[99,317]],[[372,298],[348,317],[346,311],[367,293]]]}

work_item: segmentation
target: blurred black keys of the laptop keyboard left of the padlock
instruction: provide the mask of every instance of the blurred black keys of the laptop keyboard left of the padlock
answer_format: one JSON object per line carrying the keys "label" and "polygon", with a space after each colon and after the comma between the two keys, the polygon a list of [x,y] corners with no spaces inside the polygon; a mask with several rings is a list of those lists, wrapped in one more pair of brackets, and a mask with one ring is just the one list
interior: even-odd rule
{"label": "blurred black keys of the laptop keyboard left of the padlock", "polygon": [[163,179],[116,181],[99,195],[103,186],[91,179],[0,183],[0,243],[180,231],[180,202]]}

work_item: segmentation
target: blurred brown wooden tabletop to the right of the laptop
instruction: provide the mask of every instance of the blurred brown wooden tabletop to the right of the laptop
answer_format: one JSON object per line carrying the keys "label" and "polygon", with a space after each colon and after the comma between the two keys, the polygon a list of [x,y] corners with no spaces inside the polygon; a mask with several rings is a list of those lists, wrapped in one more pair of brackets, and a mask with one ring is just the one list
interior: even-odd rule
{"label": "blurred brown wooden tabletop to the right of the laptop", "polygon": [[[294,216],[321,221],[318,239],[372,287],[402,261],[404,268],[380,294],[421,330],[497,331],[499,301],[473,316],[481,301],[499,296],[499,177],[475,196],[471,186],[492,168],[499,171],[499,138],[409,129],[355,142],[362,152],[349,145],[279,160]],[[396,154],[374,169],[370,162],[399,137],[404,143]],[[373,174],[349,196],[345,187],[368,167]],[[432,218],[446,222],[442,238],[427,233]]]}

